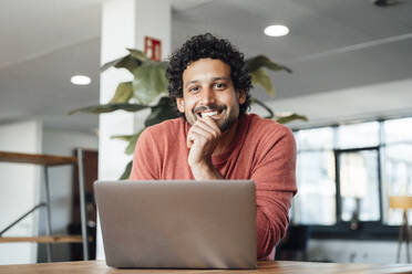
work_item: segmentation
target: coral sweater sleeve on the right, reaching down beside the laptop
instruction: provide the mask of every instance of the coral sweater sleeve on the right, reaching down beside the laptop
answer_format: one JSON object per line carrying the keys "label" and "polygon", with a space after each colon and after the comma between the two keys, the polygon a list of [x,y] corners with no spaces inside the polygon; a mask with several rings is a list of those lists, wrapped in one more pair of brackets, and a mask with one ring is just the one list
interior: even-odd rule
{"label": "coral sweater sleeve on the right, reaching down beside the laptop", "polygon": [[257,255],[267,257],[285,236],[296,193],[296,144],[289,128],[266,133],[262,155],[253,170],[257,203]]}

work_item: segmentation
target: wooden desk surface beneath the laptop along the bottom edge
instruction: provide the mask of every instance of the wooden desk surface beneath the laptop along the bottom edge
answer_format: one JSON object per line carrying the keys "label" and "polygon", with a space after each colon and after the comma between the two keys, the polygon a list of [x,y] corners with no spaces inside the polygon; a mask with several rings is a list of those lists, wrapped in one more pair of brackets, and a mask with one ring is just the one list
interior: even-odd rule
{"label": "wooden desk surface beneath the laptop along the bottom edge", "polygon": [[323,273],[412,273],[412,265],[405,264],[334,264],[334,263],[307,263],[307,262],[258,262],[258,268],[251,271],[220,271],[220,270],[116,270],[107,267],[104,261],[44,263],[44,264],[20,264],[0,265],[0,273],[265,273],[265,274],[323,274]]}

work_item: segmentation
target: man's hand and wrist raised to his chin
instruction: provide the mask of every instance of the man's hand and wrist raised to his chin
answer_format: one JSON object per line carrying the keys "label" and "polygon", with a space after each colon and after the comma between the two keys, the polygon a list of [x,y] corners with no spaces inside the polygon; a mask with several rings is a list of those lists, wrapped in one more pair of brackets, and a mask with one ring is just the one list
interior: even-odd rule
{"label": "man's hand and wrist raised to his chin", "polygon": [[212,165],[212,154],[220,137],[220,129],[208,116],[198,118],[189,129],[187,134],[187,147],[190,149],[188,165],[196,180],[223,178]]}

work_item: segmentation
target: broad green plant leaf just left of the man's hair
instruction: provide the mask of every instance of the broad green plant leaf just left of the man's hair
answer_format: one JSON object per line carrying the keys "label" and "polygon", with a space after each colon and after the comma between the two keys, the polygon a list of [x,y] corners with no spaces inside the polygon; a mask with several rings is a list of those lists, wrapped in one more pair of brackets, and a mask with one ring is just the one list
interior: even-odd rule
{"label": "broad green plant leaf just left of the man's hair", "polygon": [[166,93],[167,78],[162,62],[147,61],[133,71],[134,97],[142,104],[152,103],[161,93]]}

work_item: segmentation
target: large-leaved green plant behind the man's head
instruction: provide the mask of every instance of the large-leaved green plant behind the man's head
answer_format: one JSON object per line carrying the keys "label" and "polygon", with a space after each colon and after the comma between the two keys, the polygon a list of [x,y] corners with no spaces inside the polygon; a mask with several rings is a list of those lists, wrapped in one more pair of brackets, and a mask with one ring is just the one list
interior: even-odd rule
{"label": "large-leaved green plant behind the man's head", "polygon": [[[103,114],[120,109],[126,112],[140,112],[150,108],[151,114],[144,122],[145,127],[177,117],[177,113],[172,107],[172,98],[167,95],[167,62],[150,60],[138,50],[127,49],[127,55],[104,64],[101,72],[104,72],[110,67],[125,68],[133,74],[133,81],[120,83],[113,98],[107,104],[78,108],[70,112],[70,115],[74,113]],[[253,84],[261,86],[269,96],[275,96],[275,89],[265,68],[291,73],[290,68],[279,65],[264,55],[247,59],[246,66],[251,76]],[[280,116],[276,115],[265,103],[254,97],[251,97],[251,104],[260,105],[268,113],[266,118],[275,119],[281,124],[295,119],[307,119],[305,116],[295,113]],[[125,149],[125,154],[132,155],[138,136],[143,129],[134,135],[113,136],[112,138],[127,141],[128,145]],[[131,169],[132,161],[127,164],[121,179],[128,178]]]}

